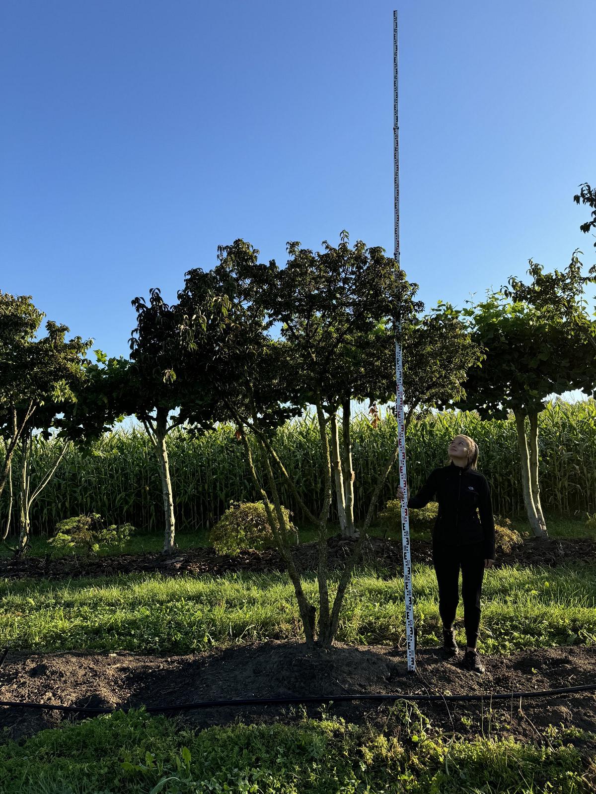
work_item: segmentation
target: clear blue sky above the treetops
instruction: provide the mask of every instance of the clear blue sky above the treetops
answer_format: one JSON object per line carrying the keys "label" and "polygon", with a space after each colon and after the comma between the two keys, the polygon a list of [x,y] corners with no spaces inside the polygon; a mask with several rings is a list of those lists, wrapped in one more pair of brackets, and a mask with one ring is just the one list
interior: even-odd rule
{"label": "clear blue sky above the treetops", "polygon": [[419,298],[593,264],[594,0],[2,0],[0,289],[126,356],[130,300],[237,237],[393,254],[396,6]]}

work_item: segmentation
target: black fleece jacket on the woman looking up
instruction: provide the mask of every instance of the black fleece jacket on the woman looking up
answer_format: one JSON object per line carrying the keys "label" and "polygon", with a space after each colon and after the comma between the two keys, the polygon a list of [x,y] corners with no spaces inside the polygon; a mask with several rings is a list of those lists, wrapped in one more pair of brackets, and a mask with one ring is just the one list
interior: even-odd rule
{"label": "black fleece jacket on the woman looking up", "polygon": [[482,541],[485,558],[493,560],[493,505],[486,477],[475,468],[462,468],[453,462],[435,468],[416,496],[408,499],[408,508],[424,507],[435,495],[439,515],[432,532],[433,542],[470,545]]}

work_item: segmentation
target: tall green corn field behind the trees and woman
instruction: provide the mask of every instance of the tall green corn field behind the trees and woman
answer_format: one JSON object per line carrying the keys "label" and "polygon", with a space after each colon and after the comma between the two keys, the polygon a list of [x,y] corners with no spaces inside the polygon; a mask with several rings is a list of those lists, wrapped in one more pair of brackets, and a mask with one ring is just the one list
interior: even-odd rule
{"label": "tall green corn field behind the trees and woman", "polygon": [[[315,418],[307,415],[283,426],[276,448],[288,472],[295,476],[304,502],[318,512],[323,498],[321,454]],[[397,423],[387,413],[376,428],[356,416],[351,425],[355,480],[354,518],[362,521],[377,470],[389,456]],[[482,421],[475,412],[444,411],[412,420],[407,434],[408,483],[414,493],[435,466],[447,463],[447,444],[455,434],[474,438],[480,449],[478,468],[490,482],[493,508],[499,515],[523,513],[517,434],[513,418]],[[543,507],[563,515],[596,511],[596,403],[549,403],[540,414],[540,487]],[[32,483],[56,455],[56,442],[37,438]],[[220,426],[211,434],[190,437],[184,430],[168,437],[168,454],[176,505],[176,527],[207,529],[230,500],[255,499],[234,428]],[[17,480],[18,458],[14,460]],[[393,498],[397,467],[385,484],[380,508]],[[304,516],[288,489],[284,504],[295,522]],[[0,519],[6,522],[8,488],[2,495]],[[331,521],[335,520],[331,507]],[[157,457],[141,430],[116,430],[90,449],[69,449],[53,480],[32,510],[34,534],[51,534],[56,523],[80,513],[97,512],[110,523],[130,522],[140,531],[161,531],[163,503]],[[16,531],[17,505],[11,531]]]}

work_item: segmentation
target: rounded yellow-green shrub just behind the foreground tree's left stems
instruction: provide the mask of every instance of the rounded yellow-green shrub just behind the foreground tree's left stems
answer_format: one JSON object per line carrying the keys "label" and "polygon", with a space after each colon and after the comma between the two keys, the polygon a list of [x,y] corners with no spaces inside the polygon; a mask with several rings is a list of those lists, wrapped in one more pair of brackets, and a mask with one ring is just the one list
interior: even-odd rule
{"label": "rounded yellow-green shrub just behind the foreground tree's left stems", "polygon": [[[273,505],[271,505],[272,510]],[[298,543],[298,530],[290,521],[291,513],[282,507],[288,540]],[[236,555],[240,549],[268,549],[275,546],[262,502],[232,502],[219,521],[211,528],[209,541],[218,554]]]}

